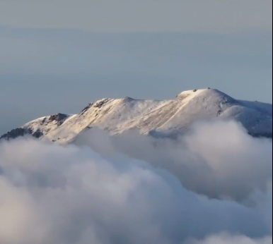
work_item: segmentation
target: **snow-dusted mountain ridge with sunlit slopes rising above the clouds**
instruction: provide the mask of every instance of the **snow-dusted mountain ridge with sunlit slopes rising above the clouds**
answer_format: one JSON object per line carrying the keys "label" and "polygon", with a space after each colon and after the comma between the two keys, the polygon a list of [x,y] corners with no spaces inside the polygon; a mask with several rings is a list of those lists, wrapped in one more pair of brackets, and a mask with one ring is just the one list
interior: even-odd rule
{"label": "snow-dusted mountain ridge with sunlit slopes rising above the clouds", "polygon": [[69,143],[88,128],[110,134],[128,130],[153,136],[171,136],[187,131],[195,121],[235,119],[252,135],[272,135],[272,104],[246,102],[214,89],[190,90],[175,99],[101,99],[79,114],[55,114],[37,118],[1,138],[31,134],[62,144]]}

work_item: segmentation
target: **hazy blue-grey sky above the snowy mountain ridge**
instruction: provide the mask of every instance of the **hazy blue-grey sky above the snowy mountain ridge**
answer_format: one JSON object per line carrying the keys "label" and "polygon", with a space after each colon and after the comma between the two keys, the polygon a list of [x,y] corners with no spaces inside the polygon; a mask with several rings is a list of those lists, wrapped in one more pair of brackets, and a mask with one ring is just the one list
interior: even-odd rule
{"label": "hazy blue-grey sky above the snowy mountain ridge", "polygon": [[205,87],[272,103],[271,0],[0,0],[0,134]]}

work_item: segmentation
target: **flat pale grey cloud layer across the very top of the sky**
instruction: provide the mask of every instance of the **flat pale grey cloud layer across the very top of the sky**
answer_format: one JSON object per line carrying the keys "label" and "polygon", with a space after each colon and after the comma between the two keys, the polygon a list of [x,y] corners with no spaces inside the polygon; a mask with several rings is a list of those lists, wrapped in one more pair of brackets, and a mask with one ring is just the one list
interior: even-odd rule
{"label": "flat pale grey cloud layer across the very top of the sky", "polygon": [[272,1],[1,0],[0,24],[99,32],[272,29]]}

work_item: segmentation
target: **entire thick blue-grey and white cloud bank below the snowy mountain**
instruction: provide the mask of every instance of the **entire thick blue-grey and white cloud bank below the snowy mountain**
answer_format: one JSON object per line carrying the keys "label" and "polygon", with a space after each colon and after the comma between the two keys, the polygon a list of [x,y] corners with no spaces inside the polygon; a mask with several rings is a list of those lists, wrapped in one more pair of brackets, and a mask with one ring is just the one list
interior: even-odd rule
{"label": "entire thick blue-grey and white cloud bank below the snowy mountain", "polygon": [[1,142],[0,243],[271,243],[272,142],[236,123],[195,126],[176,144],[94,131],[77,142]]}

